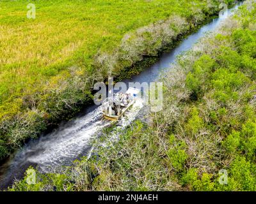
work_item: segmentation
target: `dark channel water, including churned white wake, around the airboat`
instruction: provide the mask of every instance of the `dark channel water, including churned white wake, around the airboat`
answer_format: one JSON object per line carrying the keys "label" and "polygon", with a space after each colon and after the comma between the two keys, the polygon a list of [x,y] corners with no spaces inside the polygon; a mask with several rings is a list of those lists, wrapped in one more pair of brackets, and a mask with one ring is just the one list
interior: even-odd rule
{"label": "dark channel water, including churned white wake, around the airboat", "polygon": [[[184,39],[172,51],[161,55],[159,61],[153,66],[132,79],[124,80],[124,82],[156,81],[159,73],[170,68],[170,64],[175,62],[177,55],[191,49],[205,34],[214,31],[223,20],[232,15],[232,11],[236,10],[238,6],[239,4],[236,8],[225,11],[219,18],[212,20],[196,33]],[[28,166],[36,166],[42,172],[50,172],[58,166],[70,165],[79,156],[88,155],[92,148],[90,140],[99,135],[100,130],[108,125],[108,121],[102,120],[100,107],[93,105],[75,119],[63,122],[51,133],[29,141],[21,150],[0,164],[0,187],[12,184],[15,178],[20,179]]]}

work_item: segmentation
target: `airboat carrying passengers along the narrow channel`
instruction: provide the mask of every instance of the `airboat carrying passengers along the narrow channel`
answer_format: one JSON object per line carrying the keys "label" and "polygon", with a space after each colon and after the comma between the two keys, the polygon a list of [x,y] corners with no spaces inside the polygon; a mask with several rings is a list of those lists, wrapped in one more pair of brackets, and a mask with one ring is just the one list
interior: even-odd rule
{"label": "airboat carrying passengers along the narrow channel", "polygon": [[102,103],[103,117],[108,120],[119,120],[138,99],[139,89],[129,87],[125,93],[113,94]]}

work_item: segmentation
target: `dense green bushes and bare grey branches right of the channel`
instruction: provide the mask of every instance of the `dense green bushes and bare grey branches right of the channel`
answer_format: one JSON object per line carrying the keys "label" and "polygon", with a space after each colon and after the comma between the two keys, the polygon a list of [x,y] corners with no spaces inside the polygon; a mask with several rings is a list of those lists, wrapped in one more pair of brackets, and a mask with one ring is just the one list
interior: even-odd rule
{"label": "dense green bushes and bare grey branches right of the channel", "polygon": [[151,122],[99,145],[97,157],[38,173],[35,185],[27,174],[10,190],[255,191],[255,16],[256,2],[246,1],[218,34],[179,57],[163,77],[164,112]]}

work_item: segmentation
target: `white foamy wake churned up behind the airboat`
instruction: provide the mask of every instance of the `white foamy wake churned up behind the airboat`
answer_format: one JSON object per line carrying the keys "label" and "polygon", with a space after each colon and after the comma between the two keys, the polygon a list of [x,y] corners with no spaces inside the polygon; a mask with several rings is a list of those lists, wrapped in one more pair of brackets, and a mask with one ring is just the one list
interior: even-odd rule
{"label": "white foamy wake churned up behind the airboat", "polygon": [[29,142],[15,156],[12,166],[22,163],[38,164],[42,172],[49,172],[52,167],[70,164],[90,145],[90,139],[97,131],[108,126],[102,120],[101,108],[84,115],[56,129],[38,140]]}

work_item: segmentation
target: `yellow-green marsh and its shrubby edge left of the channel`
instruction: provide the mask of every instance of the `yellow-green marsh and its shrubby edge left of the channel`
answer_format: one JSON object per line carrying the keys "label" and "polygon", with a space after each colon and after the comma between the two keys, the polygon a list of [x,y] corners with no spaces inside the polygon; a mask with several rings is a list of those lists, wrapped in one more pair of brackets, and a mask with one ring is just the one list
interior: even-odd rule
{"label": "yellow-green marsh and its shrubby edge left of the channel", "polygon": [[[35,19],[26,17],[28,3],[36,5]],[[91,101],[96,81],[157,55],[219,4],[0,1],[0,159]]]}

